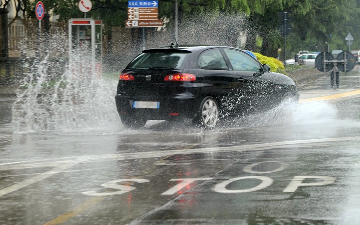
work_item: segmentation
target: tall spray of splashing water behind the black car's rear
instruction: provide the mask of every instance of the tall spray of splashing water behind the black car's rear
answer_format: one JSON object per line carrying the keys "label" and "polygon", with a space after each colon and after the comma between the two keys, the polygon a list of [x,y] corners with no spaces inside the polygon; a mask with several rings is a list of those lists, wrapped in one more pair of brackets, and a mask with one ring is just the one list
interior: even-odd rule
{"label": "tall spray of splashing water behind the black car's rear", "polygon": [[67,55],[64,36],[55,35],[35,60],[25,59],[27,72],[12,107],[14,132],[84,131],[118,121],[116,80],[84,69],[88,66],[84,62],[91,59],[83,52],[73,56],[76,66],[69,68],[63,61]]}

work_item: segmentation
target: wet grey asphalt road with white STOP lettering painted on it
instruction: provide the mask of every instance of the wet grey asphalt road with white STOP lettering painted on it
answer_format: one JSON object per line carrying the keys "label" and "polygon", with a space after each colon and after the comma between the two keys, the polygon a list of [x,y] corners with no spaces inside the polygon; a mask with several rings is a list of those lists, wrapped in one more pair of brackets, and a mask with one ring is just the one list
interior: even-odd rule
{"label": "wet grey asphalt road with white STOP lettering painted on it", "polygon": [[360,95],[340,96],[360,89],[359,70],[340,74],[339,90],[326,75],[299,81],[287,116],[280,107],[212,131],[119,121],[19,133],[2,98],[0,224],[359,225]]}

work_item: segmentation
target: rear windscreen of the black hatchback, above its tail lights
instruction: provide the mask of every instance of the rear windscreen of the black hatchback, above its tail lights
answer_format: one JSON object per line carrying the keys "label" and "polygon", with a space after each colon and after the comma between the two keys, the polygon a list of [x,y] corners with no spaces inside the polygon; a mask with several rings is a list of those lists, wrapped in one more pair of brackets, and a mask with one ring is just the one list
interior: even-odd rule
{"label": "rear windscreen of the black hatchback, above its tail lights", "polygon": [[127,66],[128,69],[183,68],[185,58],[191,53],[184,50],[145,50]]}

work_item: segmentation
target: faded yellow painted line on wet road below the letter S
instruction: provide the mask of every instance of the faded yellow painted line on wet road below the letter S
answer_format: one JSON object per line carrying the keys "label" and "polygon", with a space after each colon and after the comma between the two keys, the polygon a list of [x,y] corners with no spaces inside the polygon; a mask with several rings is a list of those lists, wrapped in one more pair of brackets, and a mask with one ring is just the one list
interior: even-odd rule
{"label": "faded yellow painted line on wet road below the letter S", "polygon": [[101,202],[102,200],[108,198],[108,196],[99,196],[99,197],[95,197],[90,199],[87,202],[84,202],[83,204],[81,204],[80,206],[77,206],[75,208],[73,208],[72,211],[68,211],[65,212],[64,214],[58,216],[57,218],[47,222],[44,225],[58,225],[58,224],[62,224],[65,221],[73,218],[74,216],[79,215],[80,213],[82,213],[83,211],[87,210],[88,208],[94,206],[95,204]]}

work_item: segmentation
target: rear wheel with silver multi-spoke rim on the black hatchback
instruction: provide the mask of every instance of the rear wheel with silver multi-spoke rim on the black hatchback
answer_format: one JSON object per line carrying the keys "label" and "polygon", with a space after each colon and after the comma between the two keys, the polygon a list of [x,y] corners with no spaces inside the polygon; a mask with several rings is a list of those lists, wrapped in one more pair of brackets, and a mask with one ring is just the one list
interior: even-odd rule
{"label": "rear wheel with silver multi-spoke rim on the black hatchback", "polygon": [[205,129],[212,129],[219,120],[219,104],[215,98],[207,96],[202,99],[198,115],[193,123]]}

